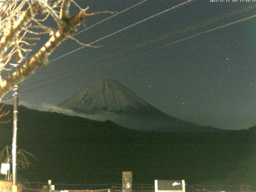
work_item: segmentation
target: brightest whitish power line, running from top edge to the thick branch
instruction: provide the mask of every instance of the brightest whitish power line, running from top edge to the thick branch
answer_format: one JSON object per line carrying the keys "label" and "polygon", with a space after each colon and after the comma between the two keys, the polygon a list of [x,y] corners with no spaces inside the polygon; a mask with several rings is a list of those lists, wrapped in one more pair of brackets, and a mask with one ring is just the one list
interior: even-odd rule
{"label": "brightest whitish power line, running from top edge to the thick branch", "polygon": [[[127,27],[125,27],[125,28],[122,28],[122,29],[120,29],[120,30],[118,30],[118,31],[116,31],[116,32],[114,32],[114,33],[111,33],[111,34],[109,34],[109,35],[107,35],[107,36],[104,36],[104,37],[102,37],[102,38],[100,38],[100,39],[98,39],[98,40],[96,40],[96,41],[94,41],[94,42],[91,42],[91,43],[89,43],[89,44],[87,44],[87,45],[84,45],[84,46],[78,48],[78,49],[75,49],[75,50],[73,50],[73,51],[70,51],[70,52],[68,52],[68,53],[66,53],[66,54],[64,54],[64,55],[62,55],[62,56],[59,56],[59,57],[57,57],[57,58],[51,60],[50,62],[54,62],[54,61],[56,61],[56,60],[58,60],[58,59],[60,59],[60,58],[62,58],[62,57],[64,57],[64,56],[67,56],[67,55],[69,55],[69,54],[71,54],[71,53],[74,53],[74,52],[76,52],[76,51],[78,51],[78,50],[80,50],[80,49],[82,49],[82,48],[85,48],[86,46],[89,46],[89,45],[94,44],[94,43],[96,43],[96,42],[98,42],[98,41],[101,41],[101,40],[103,40],[103,39],[105,39],[105,38],[108,38],[108,37],[110,37],[110,36],[112,36],[112,35],[114,35],[114,34],[117,34],[117,33],[121,32],[121,31],[124,31],[124,30],[126,30],[126,29],[128,29],[128,28],[130,28],[130,27],[132,27],[132,26],[138,25],[138,24],[140,24],[140,23],[142,23],[142,22],[144,22],[144,21],[146,21],[146,20],[149,20],[149,19],[151,19],[151,18],[154,18],[155,16],[158,16],[158,15],[160,15],[160,14],[163,14],[163,13],[165,13],[165,12],[168,12],[168,11],[170,11],[170,10],[173,10],[173,9],[175,9],[175,8],[178,8],[178,7],[180,7],[180,6],[183,6],[183,5],[187,4],[187,3],[191,3],[192,1],[196,1],[196,0],[188,0],[188,1],[183,2],[183,3],[181,3],[181,4],[178,4],[178,5],[176,5],[176,6],[172,7],[172,8],[169,8],[169,9],[167,9],[167,10],[164,10],[164,11],[158,13],[158,14],[154,14],[154,15],[152,15],[152,16],[146,18],[146,19],[143,19],[143,20],[141,20],[141,21],[139,21],[139,22],[136,22],[136,23],[134,23],[134,24],[132,24],[132,25],[130,25],[130,26],[127,26]],[[49,62],[49,63],[50,63],[50,62]]]}

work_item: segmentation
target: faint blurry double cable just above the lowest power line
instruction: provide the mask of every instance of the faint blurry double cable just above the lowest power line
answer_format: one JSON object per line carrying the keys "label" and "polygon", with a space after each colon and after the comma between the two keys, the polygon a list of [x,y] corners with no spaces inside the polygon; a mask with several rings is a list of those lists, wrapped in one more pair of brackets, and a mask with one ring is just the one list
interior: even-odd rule
{"label": "faint blurry double cable just above the lowest power line", "polygon": [[[189,26],[189,27],[183,28],[183,29],[178,30],[178,31],[176,31],[176,32],[172,32],[172,33],[166,34],[166,35],[164,35],[164,36],[159,36],[159,37],[157,37],[157,38],[154,38],[153,40],[145,41],[145,42],[142,42],[142,43],[137,44],[137,45],[135,45],[135,46],[130,46],[129,48],[126,48],[125,50],[122,50],[122,51],[120,50],[120,51],[114,52],[114,53],[109,54],[108,56],[106,56],[106,57],[104,57],[104,58],[96,59],[96,60],[94,60],[93,62],[90,62],[88,65],[91,65],[91,64],[93,64],[93,63],[95,63],[95,62],[98,62],[98,61],[101,61],[101,60],[106,60],[107,58],[110,58],[111,56],[116,55],[116,54],[125,53],[125,52],[127,52],[128,50],[131,50],[131,49],[134,49],[134,48],[139,48],[139,47],[142,47],[142,46],[146,46],[146,45],[148,45],[148,44],[152,44],[152,43],[157,42],[157,41],[159,41],[159,40],[164,40],[165,38],[168,38],[169,36],[172,36],[172,35],[175,35],[175,34],[180,34],[180,33],[188,32],[188,31],[190,31],[190,30],[194,30],[194,29],[196,29],[196,28],[199,28],[199,27],[202,27],[202,26],[211,24],[211,23],[213,23],[213,22],[217,22],[217,21],[219,21],[219,20],[228,18],[228,17],[230,17],[230,16],[234,16],[234,15],[236,15],[236,14],[240,14],[240,13],[242,13],[242,12],[251,10],[251,9],[253,9],[253,8],[256,8],[256,5],[254,5],[254,6],[248,6],[248,7],[246,7],[246,8],[242,8],[242,9],[240,9],[240,10],[236,10],[236,11],[233,11],[233,12],[229,12],[229,13],[227,13],[227,14],[222,14],[222,15],[220,15],[220,16],[218,16],[218,17],[215,17],[215,18],[212,18],[212,19],[210,19],[210,20],[203,21],[203,22],[196,23],[196,24],[194,24],[193,26]],[[74,68],[70,68],[70,69],[64,70],[64,71],[62,71],[62,72],[58,72],[57,74],[58,74],[58,75],[63,75],[63,74],[66,74],[66,73],[69,72],[69,71],[72,71],[72,70],[75,70],[75,69],[78,69],[78,68],[82,68],[82,67],[84,67],[84,66],[83,66],[83,65],[82,65],[82,66],[77,66],[77,67],[74,67]],[[49,80],[54,79],[54,78],[57,78],[57,77],[58,77],[58,76],[47,77],[47,78],[41,78],[40,80],[48,80],[48,81],[49,81]],[[24,85],[22,85],[22,87],[27,87],[27,86],[34,85],[34,84],[36,84],[36,83],[24,84]]]}

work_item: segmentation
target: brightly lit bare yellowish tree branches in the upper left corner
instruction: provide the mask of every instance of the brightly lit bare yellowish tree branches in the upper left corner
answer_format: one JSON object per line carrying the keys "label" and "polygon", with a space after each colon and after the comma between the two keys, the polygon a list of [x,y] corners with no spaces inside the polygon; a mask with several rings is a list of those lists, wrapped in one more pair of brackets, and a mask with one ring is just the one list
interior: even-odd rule
{"label": "brightly lit bare yellowish tree branches in the upper left corner", "polygon": [[[70,16],[70,4],[78,8],[76,16]],[[48,56],[67,38],[71,37],[78,26],[88,16],[98,13],[86,13],[88,7],[81,8],[74,0],[27,0],[0,4],[0,72],[9,70],[14,54],[19,59],[16,64],[25,63],[17,72],[13,72],[6,79],[0,79],[0,98],[19,82],[32,75],[39,67],[49,64]],[[42,15],[44,18],[42,18]],[[53,18],[57,28],[47,26],[45,22]],[[39,36],[49,34],[50,38],[33,56],[28,58],[32,46],[40,40]]]}

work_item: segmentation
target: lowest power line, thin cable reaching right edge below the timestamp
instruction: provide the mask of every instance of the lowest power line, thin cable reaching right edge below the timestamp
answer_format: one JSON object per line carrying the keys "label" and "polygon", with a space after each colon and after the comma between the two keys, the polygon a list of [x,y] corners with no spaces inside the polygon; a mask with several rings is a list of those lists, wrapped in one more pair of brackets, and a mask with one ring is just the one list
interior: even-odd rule
{"label": "lowest power line, thin cable reaching right edge below the timestamp", "polygon": [[[172,44],[176,44],[176,43],[178,43],[178,42],[182,42],[182,41],[184,41],[184,40],[187,40],[187,39],[190,39],[190,38],[193,38],[193,37],[196,37],[196,36],[199,36],[199,35],[208,33],[208,32],[212,32],[212,31],[214,31],[214,30],[218,30],[218,29],[220,29],[220,28],[224,28],[224,27],[227,27],[227,26],[230,26],[230,25],[239,23],[239,22],[243,22],[243,21],[245,21],[245,20],[249,20],[249,19],[252,19],[252,18],[255,18],[255,17],[256,17],[256,15],[253,15],[253,16],[250,16],[250,17],[241,19],[241,20],[237,20],[237,21],[235,21],[235,22],[231,22],[231,23],[229,23],[229,24],[225,24],[225,25],[222,25],[222,26],[219,26],[219,27],[216,27],[216,28],[213,28],[213,29],[204,31],[204,32],[201,32],[201,33],[198,33],[198,34],[189,36],[189,37],[187,37],[187,38],[183,38],[183,39],[181,39],[181,40],[177,40],[177,41],[171,42],[171,43],[169,43],[169,44],[165,44],[165,45],[163,45],[163,46],[160,46],[160,47],[157,47],[157,48],[148,50],[148,51],[146,51],[146,52],[142,52],[142,53],[140,53],[140,54],[136,54],[136,55],[134,55],[134,56],[131,56],[131,57],[128,57],[128,58],[125,58],[125,59],[122,59],[122,60],[119,60],[119,61],[116,61],[116,62],[112,62],[112,63],[106,64],[106,65],[104,65],[104,66],[100,66],[100,67],[98,67],[98,68],[96,68],[96,69],[93,69],[93,70],[90,70],[90,71],[87,71],[87,72],[92,72],[92,71],[95,71],[95,70],[99,70],[99,69],[102,69],[102,68],[106,68],[106,67],[108,67],[108,66],[110,66],[110,65],[117,64],[117,63],[119,63],[119,62],[123,62],[123,61],[125,61],[125,60],[128,60],[128,59],[131,59],[131,58],[140,56],[140,55],[142,55],[142,54],[146,54],[146,53],[149,53],[149,52],[152,52],[152,51],[155,51],[155,50],[164,48],[164,47],[166,47],[166,46],[170,46],[170,45],[172,45]],[[23,94],[23,93],[26,93],[26,92],[30,92],[30,91],[33,91],[33,90],[37,90],[37,89],[39,89],[39,88],[42,88],[42,87],[45,87],[45,86],[48,86],[48,85],[56,84],[56,83],[58,83],[58,82],[65,81],[65,80],[68,80],[68,79],[70,79],[70,78],[74,78],[74,77],[76,77],[76,76],[78,76],[78,75],[80,75],[80,74],[84,74],[84,73],[77,73],[77,74],[74,74],[74,75],[72,75],[72,76],[65,77],[65,78],[62,78],[62,79],[60,79],[60,80],[50,82],[50,83],[48,83],[48,84],[44,84],[44,85],[42,85],[42,86],[38,86],[38,87],[36,87],[36,88],[32,88],[32,89],[30,89],[30,90],[26,90],[26,91],[24,91],[24,92],[21,92],[20,94]]]}

